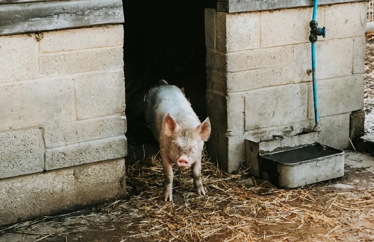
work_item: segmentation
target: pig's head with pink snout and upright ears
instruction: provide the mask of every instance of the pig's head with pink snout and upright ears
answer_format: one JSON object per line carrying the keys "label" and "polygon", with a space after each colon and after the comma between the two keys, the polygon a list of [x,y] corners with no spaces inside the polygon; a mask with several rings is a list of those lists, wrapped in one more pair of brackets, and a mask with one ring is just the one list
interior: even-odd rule
{"label": "pig's head with pink snout and upright ears", "polygon": [[168,113],[164,119],[163,129],[167,137],[167,152],[172,162],[185,171],[198,159],[201,159],[204,142],[210,136],[209,118],[199,126],[185,128],[179,126]]}

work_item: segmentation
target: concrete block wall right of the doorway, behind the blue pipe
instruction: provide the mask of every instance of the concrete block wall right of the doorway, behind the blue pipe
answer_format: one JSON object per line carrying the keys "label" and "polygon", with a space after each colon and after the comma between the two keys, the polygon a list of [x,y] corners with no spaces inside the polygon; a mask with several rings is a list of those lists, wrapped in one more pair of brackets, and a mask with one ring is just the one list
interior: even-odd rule
{"label": "concrete block wall right of the doorway, behind the blue pipe", "polygon": [[[320,142],[349,146],[350,113],[363,108],[366,3],[318,8]],[[232,13],[206,9],[208,152],[222,169],[244,162],[244,139],[313,128],[312,7]]]}

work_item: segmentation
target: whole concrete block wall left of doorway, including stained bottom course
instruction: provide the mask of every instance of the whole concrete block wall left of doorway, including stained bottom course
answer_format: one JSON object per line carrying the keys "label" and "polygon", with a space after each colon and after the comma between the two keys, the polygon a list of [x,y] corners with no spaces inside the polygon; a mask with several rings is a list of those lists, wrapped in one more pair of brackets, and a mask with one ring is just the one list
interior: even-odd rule
{"label": "whole concrete block wall left of doorway, including stained bottom course", "polygon": [[0,224],[126,194],[123,36],[0,36]]}

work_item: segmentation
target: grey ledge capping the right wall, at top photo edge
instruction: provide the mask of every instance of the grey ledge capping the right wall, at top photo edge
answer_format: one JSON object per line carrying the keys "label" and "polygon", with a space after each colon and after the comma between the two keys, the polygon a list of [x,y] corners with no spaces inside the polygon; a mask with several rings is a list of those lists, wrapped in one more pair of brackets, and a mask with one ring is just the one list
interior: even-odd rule
{"label": "grey ledge capping the right wall, at top photo edge", "polygon": [[[318,5],[359,2],[366,0],[320,0]],[[256,12],[284,8],[309,7],[313,0],[219,0],[217,10],[227,13]]]}

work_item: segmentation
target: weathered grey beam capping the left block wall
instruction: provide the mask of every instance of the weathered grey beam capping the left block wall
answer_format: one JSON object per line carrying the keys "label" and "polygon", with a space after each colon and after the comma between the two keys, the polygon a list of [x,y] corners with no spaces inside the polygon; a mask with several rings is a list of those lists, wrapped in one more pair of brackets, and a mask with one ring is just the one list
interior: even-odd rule
{"label": "weathered grey beam capping the left block wall", "polygon": [[120,0],[16,3],[0,5],[0,35],[124,22]]}

